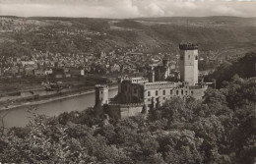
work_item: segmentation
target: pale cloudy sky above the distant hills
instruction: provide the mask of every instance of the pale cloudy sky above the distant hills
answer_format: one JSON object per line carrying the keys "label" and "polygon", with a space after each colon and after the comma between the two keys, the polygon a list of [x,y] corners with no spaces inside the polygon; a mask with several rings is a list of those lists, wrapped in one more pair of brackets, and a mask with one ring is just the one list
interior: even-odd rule
{"label": "pale cloudy sky above the distant hills", "polygon": [[91,18],[256,17],[256,0],[0,0],[0,15]]}

